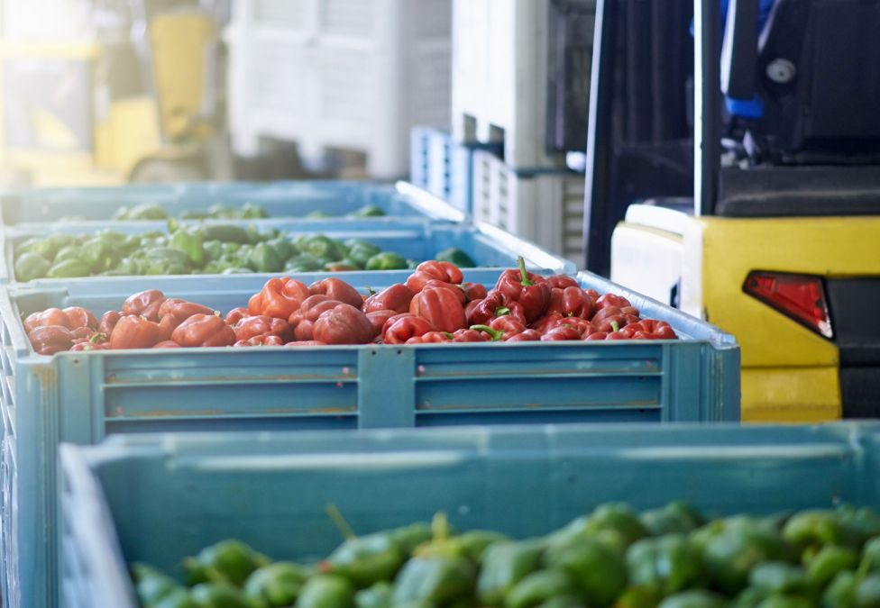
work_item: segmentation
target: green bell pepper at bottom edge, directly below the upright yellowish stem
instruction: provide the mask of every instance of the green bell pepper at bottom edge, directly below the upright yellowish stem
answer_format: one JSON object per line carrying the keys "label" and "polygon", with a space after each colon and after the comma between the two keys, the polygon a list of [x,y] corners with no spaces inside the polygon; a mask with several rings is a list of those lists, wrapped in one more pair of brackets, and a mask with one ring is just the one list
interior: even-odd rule
{"label": "green bell pepper at bottom edge, directly below the upright yellowish stem", "polygon": [[468,558],[411,558],[395,580],[394,605],[454,603],[472,593],[475,579],[476,568]]}

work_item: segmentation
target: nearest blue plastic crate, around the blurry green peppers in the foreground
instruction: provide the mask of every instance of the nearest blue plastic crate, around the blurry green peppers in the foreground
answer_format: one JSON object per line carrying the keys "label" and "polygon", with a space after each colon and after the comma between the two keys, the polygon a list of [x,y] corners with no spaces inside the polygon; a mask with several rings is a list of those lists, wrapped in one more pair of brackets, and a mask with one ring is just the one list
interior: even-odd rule
{"label": "nearest blue plastic crate, around the blurry green peppers in the foreground", "polygon": [[461,530],[516,538],[611,501],[683,498],[711,515],[880,508],[880,425],[129,436],[63,446],[61,467],[66,605],[135,608],[135,560],[177,573],[231,537],[277,559],[325,556],[341,541],[325,504],[359,534],[444,511]]}

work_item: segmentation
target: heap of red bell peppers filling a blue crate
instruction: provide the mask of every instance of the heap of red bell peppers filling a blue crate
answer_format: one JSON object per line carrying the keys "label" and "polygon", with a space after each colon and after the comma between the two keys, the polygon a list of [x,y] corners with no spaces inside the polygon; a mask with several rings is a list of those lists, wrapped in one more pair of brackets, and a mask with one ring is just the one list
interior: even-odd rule
{"label": "heap of red bell peppers filling a blue crate", "polygon": [[97,319],[85,308],[32,313],[24,328],[41,355],[62,350],[178,349],[552,340],[671,340],[667,322],[642,319],[620,295],[572,277],[505,270],[491,290],[449,262],[419,264],[406,283],[364,296],[339,278],[311,285],[270,279],[226,316],[156,289]]}

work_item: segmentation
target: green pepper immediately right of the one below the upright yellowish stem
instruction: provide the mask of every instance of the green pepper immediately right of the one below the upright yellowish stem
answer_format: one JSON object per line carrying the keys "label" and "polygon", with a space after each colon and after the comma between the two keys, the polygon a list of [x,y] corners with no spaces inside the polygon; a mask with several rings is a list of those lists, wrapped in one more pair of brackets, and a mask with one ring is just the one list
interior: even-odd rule
{"label": "green pepper immediately right of the one below the upright yellowish stem", "polygon": [[477,595],[486,605],[499,606],[519,581],[541,563],[544,547],[536,540],[501,541],[490,544],[482,556]]}

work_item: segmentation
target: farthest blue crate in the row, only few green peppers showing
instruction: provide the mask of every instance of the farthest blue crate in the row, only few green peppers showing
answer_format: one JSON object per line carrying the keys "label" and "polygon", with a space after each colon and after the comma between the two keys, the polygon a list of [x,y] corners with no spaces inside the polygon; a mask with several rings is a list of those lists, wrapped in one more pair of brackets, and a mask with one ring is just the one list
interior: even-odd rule
{"label": "farthest blue crate in the row, only few green peppers showing", "polygon": [[[212,204],[240,206],[245,203],[260,204],[274,218],[302,218],[313,211],[343,216],[365,204],[375,204],[388,217],[451,222],[464,219],[460,211],[409,184],[401,182],[390,186],[344,181],[39,188],[0,195],[0,214],[6,226],[56,222],[70,216],[105,222],[113,218],[119,207],[142,203],[160,204],[172,216],[185,211],[205,211]],[[339,217],[336,221],[356,220]]]}

